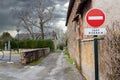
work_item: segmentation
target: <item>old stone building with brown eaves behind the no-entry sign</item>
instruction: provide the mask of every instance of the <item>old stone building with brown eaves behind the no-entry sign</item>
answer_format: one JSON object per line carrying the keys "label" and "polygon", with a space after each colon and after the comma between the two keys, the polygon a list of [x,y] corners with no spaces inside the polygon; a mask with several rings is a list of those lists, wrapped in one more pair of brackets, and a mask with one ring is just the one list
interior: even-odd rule
{"label": "old stone building with brown eaves behind the no-entry sign", "polygon": [[[99,8],[106,15],[105,23],[101,27],[112,27],[112,22],[120,19],[120,0],[70,0],[66,26],[68,27],[68,51],[70,57],[87,80],[94,80],[94,43],[93,36],[84,35],[84,28],[90,27],[85,15],[92,8]],[[101,47],[104,46],[99,41],[99,78],[100,80],[110,80],[109,69],[102,56]],[[111,79],[112,80],[112,79]]]}

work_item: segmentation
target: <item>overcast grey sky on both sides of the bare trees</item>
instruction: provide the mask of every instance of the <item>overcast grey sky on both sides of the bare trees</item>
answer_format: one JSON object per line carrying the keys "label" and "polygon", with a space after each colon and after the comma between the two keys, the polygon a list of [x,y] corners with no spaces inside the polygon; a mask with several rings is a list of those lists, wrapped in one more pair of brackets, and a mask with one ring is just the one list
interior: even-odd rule
{"label": "overcast grey sky on both sides of the bare trees", "polygon": [[[17,34],[17,19],[13,18],[12,9],[29,7],[29,3],[34,0],[0,0],[0,34],[8,31],[12,36]],[[49,0],[48,4],[49,3]],[[69,0],[53,0],[55,2],[54,26],[66,29],[65,20]]]}

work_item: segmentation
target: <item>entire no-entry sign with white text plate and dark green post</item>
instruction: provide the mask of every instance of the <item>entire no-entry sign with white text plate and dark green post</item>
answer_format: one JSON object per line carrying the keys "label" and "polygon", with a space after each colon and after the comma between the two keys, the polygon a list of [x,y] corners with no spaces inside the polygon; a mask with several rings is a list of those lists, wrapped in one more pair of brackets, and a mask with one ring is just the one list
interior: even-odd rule
{"label": "entire no-entry sign with white text plate and dark green post", "polygon": [[87,23],[93,28],[85,28],[85,35],[95,35],[94,37],[94,62],[95,62],[95,80],[99,80],[99,65],[98,65],[98,40],[97,35],[104,35],[105,28],[99,28],[105,21],[105,15],[100,9],[91,9],[86,15]]}

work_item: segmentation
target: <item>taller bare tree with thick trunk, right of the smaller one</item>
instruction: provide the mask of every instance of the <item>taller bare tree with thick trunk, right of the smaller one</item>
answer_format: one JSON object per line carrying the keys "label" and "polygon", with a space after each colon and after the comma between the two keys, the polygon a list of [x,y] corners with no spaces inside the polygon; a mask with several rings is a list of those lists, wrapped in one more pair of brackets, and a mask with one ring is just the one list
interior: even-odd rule
{"label": "taller bare tree with thick trunk, right of the smaller one", "polygon": [[54,5],[47,6],[46,0],[37,0],[37,4],[34,8],[36,15],[39,18],[39,26],[36,26],[41,31],[41,37],[44,39],[44,25],[48,23],[53,15]]}

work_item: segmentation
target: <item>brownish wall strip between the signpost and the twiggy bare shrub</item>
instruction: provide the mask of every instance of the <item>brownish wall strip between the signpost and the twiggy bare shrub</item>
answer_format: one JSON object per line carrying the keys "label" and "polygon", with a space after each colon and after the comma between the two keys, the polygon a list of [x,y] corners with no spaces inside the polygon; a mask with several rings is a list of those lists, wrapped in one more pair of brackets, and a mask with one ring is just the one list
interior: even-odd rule
{"label": "brownish wall strip between the signpost and the twiggy bare shrub", "polygon": [[98,56],[99,56],[99,77],[100,80],[107,80],[107,74],[109,72],[108,64],[106,65],[105,59],[108,56],[105,56],[104,48],[104,40],[100,40],[98,44]]}

